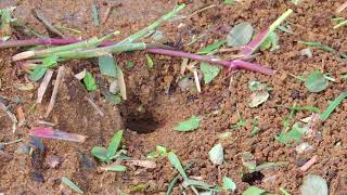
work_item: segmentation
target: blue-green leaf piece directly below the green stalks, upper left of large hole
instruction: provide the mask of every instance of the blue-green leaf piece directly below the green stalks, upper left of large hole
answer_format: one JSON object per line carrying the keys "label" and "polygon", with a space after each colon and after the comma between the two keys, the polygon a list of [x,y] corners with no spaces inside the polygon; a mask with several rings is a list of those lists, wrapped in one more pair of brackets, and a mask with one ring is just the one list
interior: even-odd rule
{"label": "blue-green leaf piece directly below the green stalks, upper left of large hole", "polygon": [[99,69],[102,75],[117,78],[117,64],[113,55],[102,55],[98,60]]}

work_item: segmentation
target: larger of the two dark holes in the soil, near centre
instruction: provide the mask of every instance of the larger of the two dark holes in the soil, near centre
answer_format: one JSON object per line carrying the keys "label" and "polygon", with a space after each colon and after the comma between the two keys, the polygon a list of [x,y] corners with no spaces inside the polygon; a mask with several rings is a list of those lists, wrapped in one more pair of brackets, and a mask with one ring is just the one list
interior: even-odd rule
{"label": "larger of the two dark holes in the soil, near centre", "polygon": [[136,131],[139,134],[146,134],[155,131],[159,123],[149,113],[140,116],[129,116],[126,121],[126,128]]}

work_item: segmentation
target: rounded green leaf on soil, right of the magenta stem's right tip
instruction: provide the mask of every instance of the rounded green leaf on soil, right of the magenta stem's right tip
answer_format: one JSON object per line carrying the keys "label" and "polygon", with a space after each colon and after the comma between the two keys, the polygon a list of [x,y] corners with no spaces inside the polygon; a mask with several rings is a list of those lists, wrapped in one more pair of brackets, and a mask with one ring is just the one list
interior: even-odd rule
{"label": "rounded green leaf on soil, right of the magenta stem's right tip", "polygon": [[305,87],[309,92],[318,93],[326,89],[329,81],[320,70],[314,70],[305,80]]}

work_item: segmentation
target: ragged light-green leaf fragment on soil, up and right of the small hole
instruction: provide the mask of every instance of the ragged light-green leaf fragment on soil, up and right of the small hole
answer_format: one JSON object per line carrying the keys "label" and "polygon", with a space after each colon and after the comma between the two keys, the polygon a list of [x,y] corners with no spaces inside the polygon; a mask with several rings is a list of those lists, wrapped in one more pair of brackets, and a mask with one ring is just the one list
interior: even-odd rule
{"label": "ragged light-green leaf fragment on soil, up and right of the small hole", "polygon": [[290,132],[282,131],[279,136],[275,136],[275,140],[283,144],[290,144],[293,141],[298,142],[307,131],[308,126],[295,122]]}

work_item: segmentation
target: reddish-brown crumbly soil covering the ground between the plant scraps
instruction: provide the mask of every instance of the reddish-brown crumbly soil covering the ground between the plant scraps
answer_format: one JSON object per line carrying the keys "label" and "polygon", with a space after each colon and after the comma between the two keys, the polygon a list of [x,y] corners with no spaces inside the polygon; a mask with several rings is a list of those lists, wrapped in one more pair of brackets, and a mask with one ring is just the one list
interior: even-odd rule
{"label": "reddish-brown crumbly soil covering the ground between the plant scraps", "polygon": [[[15,16],[42,34],[46,34],[44,28],[30,14],[33,8],[40,9],[54,25],[64,25],[81,30],[82,37],[102,36],[118,29],[123,32],[118,39],[120,40],[170,11],[176,3],[176,1],[164,0],[123,1],[123,5],[112,12],[105,25],[94,27],[91,17],[92,2],[92,0],[59,2],[22,0],[3,2],[1,8],[16,4]],[[103,13],[106,6],[102,1],[98,2],[100,13]],[[290,17],[290,22],[295,35],[279,32],[281,49],[275,52],[264,52],[256,58],[258,63],[275,69],[275,76],[270,77],[241,70],[232,75],[233,82],[230,86],[226,72],[222,72],[210,84],[203,86],[202,93],[198,94],[181,91],[175,82],[170,87],[171,81],[175,81],[179,75],[181,62],[178,58],[155,56],[154,69],[149,70],[145,66],[143,52],[116,55],[123,67],[129,60],[136,64],[134,68],[125,70],[129,100],[120,106],[112,106],[100,96],[99,91],[91,94],[95,103],[105,110],[106,116],[101,118],[88,103],[79,99],[86,93],[80,83],[76,80],[65,80],[61,87],[57,103],[48,120],[56,122],[59,129],[87,135],[87,141],[81,144],[43,140],[46,153],[39,154],[41,156],[38,158],[44,160],[46,156],[56,155],[63,159],[61,166],[55,169],[48,168],[46,165],[40,167],[39,171],[44,178],[43,183],[33,179],[35,170],[30,156],[15,153],[20,144],[7,145],[4,152],[12,157],[0,156],[0,192],[5,194],[55,194],[57,192],[70,194],[72,192],[60,183],[60,178],[63,176],[75,181],[87,194],[116,194],[118,188],[128,192],[131,186],[141,183],[147,184],[147,187],[142,192],[144,194],[165,192],[169,182],[177,174],[166,158],[157,159],[157,168],[153,170],[131,167],[125,173],[98,171],[95,167],[101,164],[95,160],[93,160],[94,167],[91,169],[87,169],[81,162],[80,153],[90,156],[92,146],[107,145],[114,130],[127,127],[136,119],[153,120],[155,125],[153,125],[153,132],[146,134],[138,134],[130,130],[125,131],[123,144],[128,148],[129,156],[134,159],[144,159],[144,155],[154,151],[156,145],[164,145],[175,151],[183,165],[191,160],[195,161],[188,171],[192,177],[201,177],[204,181],[218,185],[221,185],[223,176],[231,177],[237,184],[235,194],[242,194],[248,186],[247,183],[242,182],[240,177],[240,172],[245,171],[241,161],[243,152],[254,154],[258,164],[266,161],[288,162],[288,166],[270,172],[270,176],[275,174],[277,177],[273,182],[257,184],[258,187],[269,192],[280,193],[279,187],[283,187],[293,194],[298,194],[303,178],[308,173],[323,177],[329,183],[331,194],[346,191],[346,103],[340,104],[335,113],[319,126],[318,131],[321,132],[321,136],[305,139],[312,144],[311,152],[297,155],[294,147],[285,146],[274,140],[274,135],[279,134],[282,129],[282,119],[288,115],[287,109],[275,107],[275,105],[290,106],[296,103],[301,106],[317,106],[323,110],[329,105],[329,100],[333,100],[346,90],[346,81],[339,77],[347,73],[346,64],[339,62],[333,54],[316,49],[312,58],[301,56],[299,50],[304,47],[296,43],[297,40],[316,40],[346,52],[347,28],[334,30],[330,22],[330,18],[335,16],[335,9],[342,3],[343,0],[308,0],[299,6],[294,6],[284,0],[247,0],[232,6],[223,5],[216,0],[196,0],[189,3],[183,14],[192,13],[208,4],[217,4],[217,6],[191,18],[165,23],[159,27],[159,30],[165,35],[163,42],[177,43],[181,38],[182,44],[187,44],[193,35],[201,35],[209,25],[228,27],[243,21],[250,22],[259,30],[270,25],[286,9],[294,9],[295,14]],[[346,17],[346,12],[340,16]],[[180,23],[184,27],[178,29]],[[79,36],[69,31],[64,31],[64,34],[70,37]],[[195,52],[215,39],[223,37],[222,30],[210,32],[206,38],[191,47],[184,47],[183,50]],[[0,78],[2,81],[0,95],[18,96],[24,101],[22,106],[28,120],[28,127],[18,128],[15,133],[12,133],[11,120],[0,112],[0,142],[18,138],[24,138],[25,142],[28,142],[28,130],[37,126],[36,120],[44,114],[51,93],[50,90],[49,94],[46,94],[42,105],[29,114],[30,106],[36,100],[36,91],[23,92],[16,89],[16,83],[25,82],[25,73],[11,62],[11,55],[18,51],[11,49],[0,52]],[[74,73],[78,73],[82,68],[98,73],[98,66],[92,61],[74,61],[64,65],[70,67]],[[300,82],[287,75],[308,74],[313,69],[331,73],[331,76],[337,79],[321,93],[308,93]],[[273,87],[270,100],[258,108],[247,106],[250,95],[247,83],[250,79],[258,79]],[[295,100],[291,95],[294,91],[299,93]],[[18,106],[12,105],[14,108]],[[140,105],[143,105],[144,110],[139,112]],[[236,109],[242,113],[247,126],[230,131],[230,127],[237,121]],[[203,117],[198,130],[189,133],[172,130],[175,125],[191,115]],[[308,112],[298,112],[295,120],[307,116],[309,116]],[[250,122],[255,117],[259,118],[261,130],[257,135],[249,138]],[[218,140],[217,135],[226,131],[230,131],[231,136],[227,140]],[[218,167],[208,159],[208,151],[216,143],[222,143],[226,153],[226,162]],[[336,143],[340,144],[336,145]],[[313,155],[318,155],[318,161],[308,171],[299,172],[296,162],[300,159],[307,160]],[[179,194],[179,187],[174,191],[175,194]]]}

